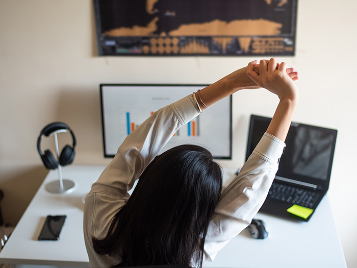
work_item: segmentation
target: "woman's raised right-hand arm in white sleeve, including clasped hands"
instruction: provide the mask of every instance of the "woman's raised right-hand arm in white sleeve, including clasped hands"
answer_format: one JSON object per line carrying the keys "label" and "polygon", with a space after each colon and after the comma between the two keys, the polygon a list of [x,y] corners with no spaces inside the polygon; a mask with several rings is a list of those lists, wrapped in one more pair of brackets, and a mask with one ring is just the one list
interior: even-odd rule
{"label": "woman's raised right-hand arm in white sleeve, including clasped hands", "polygon": [[[248,64],[246,76],[278,96],[280,102],[271,124],[241,168],[221,194],[205,240],[205,257],[213,260],[217,252],[251,222],[267,196],[278,169],[291,118],[297,103],[297,72],[274,59]],[[259,68],[257,70],[257,65]],[[238,89],[239,90],[239,89]]]}

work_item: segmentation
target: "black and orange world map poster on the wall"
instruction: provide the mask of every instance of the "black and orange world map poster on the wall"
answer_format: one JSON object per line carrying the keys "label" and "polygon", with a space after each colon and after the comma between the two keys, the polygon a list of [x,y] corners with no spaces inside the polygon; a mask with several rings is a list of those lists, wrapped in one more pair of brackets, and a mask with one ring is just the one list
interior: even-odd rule
{"label": "black and orange world map poster on the wall", "polygon": [[100,56],[293,56],[297,0],[94,0]]}

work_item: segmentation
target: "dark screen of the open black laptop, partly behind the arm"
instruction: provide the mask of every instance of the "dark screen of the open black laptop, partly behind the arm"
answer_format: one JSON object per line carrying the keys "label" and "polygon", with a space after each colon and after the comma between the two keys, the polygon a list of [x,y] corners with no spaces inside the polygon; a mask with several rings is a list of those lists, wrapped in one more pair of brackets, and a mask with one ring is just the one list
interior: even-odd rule
{"label": "dark screen of the open black laptop, partly behind the arm", "polygon": [[[271,118],[251,115],[246,159],[254,150]],[[292,123],[276,174],[327,189],[335,152],[337,130]]]}

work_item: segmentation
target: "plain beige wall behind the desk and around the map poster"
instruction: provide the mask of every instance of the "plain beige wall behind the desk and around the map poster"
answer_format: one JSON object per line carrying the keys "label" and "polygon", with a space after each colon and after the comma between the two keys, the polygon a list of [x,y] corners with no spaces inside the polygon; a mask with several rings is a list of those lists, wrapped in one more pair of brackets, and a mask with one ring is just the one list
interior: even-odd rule
{"label": "plain beige wall behind the desk and around the map poster", "polygon": [[[339,130],[329,198],[350,267],[357,266],[355,10],[354,0],[299,0],[296,56],[278,58],[300,72],[294,120]],[[97,57],[95,44],[91,0],[0,0],[0,188],[7,222],[17,223],[47,172],[36,150],[46,124],[61,120],[73,129],[75,163],[108,163],[99,83],[212,83],[254,59]],[[224,165],[243,162],[249,114],[270,116],[275,105],[264,90],[234,96],[234,159]]]}

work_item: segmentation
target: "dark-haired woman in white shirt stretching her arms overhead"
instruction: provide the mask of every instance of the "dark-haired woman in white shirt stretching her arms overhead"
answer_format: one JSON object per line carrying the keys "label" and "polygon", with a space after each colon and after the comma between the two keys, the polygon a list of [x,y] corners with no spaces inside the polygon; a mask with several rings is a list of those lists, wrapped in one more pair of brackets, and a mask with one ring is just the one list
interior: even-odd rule
{"label": "dark-haired woman in white shirt stretching her arms overhead", "polygon": [[[278,168],[295,110],[297,72],[283,62],[253,61],[151,115],[120,145],[85,202],[90,265],[201,267],[249,225]],[[279,104],[252,155],[226,189],[212,155],[181,145],[157,156],[182,126],[241,89],[264,87]],[[140,177],[132,196],[127,193]]]}

